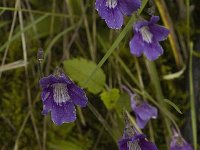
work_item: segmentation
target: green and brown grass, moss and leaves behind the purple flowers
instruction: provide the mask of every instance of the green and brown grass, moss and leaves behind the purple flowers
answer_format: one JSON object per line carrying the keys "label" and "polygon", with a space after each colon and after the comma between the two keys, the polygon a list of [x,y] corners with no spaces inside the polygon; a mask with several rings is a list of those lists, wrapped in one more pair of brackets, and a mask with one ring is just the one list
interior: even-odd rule
{"label": "green and brown grass, moss and leaves behind the purple flowers", "polygon": [[[126,85],[158,107],[158,119],[143,132],[160,150],[169,148],[172,124],[200,149],[200,2],[143,0],[121,30],[110,30],[94,3],[0,1],[0,148],[115,150],[124,128],[122,110],[131,113],[129,96],[121,90]],[[152,6],[159,24],[171,30],[161,43],[164,55],[155,62],[132,56],[128,46],[132,24],[138,15],[149,19]],[[77,109],[74,123],[56,126],[41,115],[39,47],[45,76],[61,66],[87,91],[90,103]]]}

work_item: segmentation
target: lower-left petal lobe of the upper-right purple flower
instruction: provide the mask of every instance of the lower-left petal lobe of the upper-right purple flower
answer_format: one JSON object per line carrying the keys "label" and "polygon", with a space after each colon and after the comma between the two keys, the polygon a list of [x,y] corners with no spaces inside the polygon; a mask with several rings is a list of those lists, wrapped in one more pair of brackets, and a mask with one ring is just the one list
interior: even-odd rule
{"label": "lower-left petal lobe of the upper-right purple flower", "polygon": [[132,40],[129,42],[129,47],[131,50],[131,54],[139,57],[142,55],[143,53],[143,45],[144,43],[142,42],[142,37],[140,36],[139,33],[135,32],[134,37],[132,38]]}

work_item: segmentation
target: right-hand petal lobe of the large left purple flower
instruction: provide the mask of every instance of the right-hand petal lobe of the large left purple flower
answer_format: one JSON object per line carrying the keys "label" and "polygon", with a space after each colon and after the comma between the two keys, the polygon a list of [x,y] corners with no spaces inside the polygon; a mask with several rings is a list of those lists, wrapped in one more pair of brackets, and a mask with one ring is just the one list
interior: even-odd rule
{"label": "right-hand petal lobe of the large left purple flower", "polygon": [[80,107],[85,107],[87,105],[88,99],[85,95],[85,92],[74,83],[68,86],[69,95],[74,104],[79,105]]}

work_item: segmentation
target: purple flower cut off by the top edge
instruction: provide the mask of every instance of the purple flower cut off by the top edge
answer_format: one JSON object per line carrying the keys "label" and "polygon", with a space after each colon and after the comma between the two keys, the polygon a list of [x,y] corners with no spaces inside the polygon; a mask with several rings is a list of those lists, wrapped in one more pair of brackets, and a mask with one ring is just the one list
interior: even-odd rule
{"label": "purple flower cut off by the top edge", "polygon": [[95,7],[109,28],[120,29],[124,17],[131,15],[141,6],[141,0],[96,0]]}

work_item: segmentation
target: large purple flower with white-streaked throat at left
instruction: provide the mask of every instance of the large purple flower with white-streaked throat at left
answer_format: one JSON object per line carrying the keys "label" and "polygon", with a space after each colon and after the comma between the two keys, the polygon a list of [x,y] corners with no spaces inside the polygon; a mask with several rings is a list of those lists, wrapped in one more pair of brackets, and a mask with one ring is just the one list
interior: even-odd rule
{"label": "large purple flower with white-streaked throat at left", "polygon": [[56,68],[54,75],[43,77],[39,82],[42,87],[42,114],[51,112],[56,125],[75,121],[75,105],[87,105],[88,99],[83,89],[74,84],[60,68]]}

